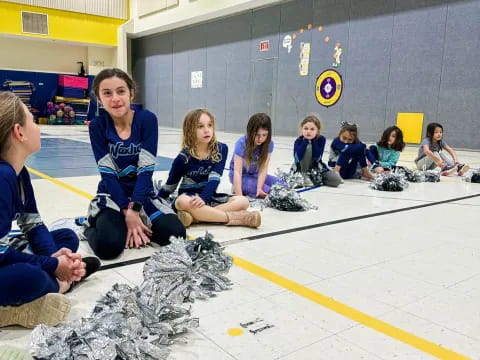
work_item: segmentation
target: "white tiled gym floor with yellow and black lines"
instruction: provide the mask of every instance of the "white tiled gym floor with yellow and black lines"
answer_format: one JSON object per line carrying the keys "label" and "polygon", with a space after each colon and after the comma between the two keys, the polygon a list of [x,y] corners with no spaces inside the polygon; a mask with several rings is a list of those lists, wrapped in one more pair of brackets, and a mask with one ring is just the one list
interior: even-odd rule
{"label": "white tiled gym floor with yellow and black lines", "polygon": [[[45,140],[89,142],[87,127],[41,128]],[[240,135],[217,132],[230,152]],[[294,137],[273,139],[270,173],[288,170]],[[158,156],[175,157],[180,143],[180,130],[161,128]],[[58,158],[69,163],[63,173],[81,173],[79,154],[59,144]],[[407,147],[399,164],[413,168],[416,152],[416,146]],[[324,159],[327,153],[328,146]],[[457,154],[471,167],[480,166],[480,152]],[[93,158],[90,152],[81,156]],[[45,223],[84,215],[99,175],[55,176],[61,162],[48,157],[51,173],[48,166],[31,165],[61,182],[33,180]],[[167,174],[158,171],[154,178],[166,180]],[[220,189],[231,189],[227,170]],[[266,208],[259,229],[201,224],[187,230],[193,237],[208,230],[225,243],[235,257],[229,273],[234,285],[193,304],[200,327],[188,332],[186,344],[171,346],[171,359],[480,359],[480,184],[453,175],[392,193],[347,180],[301,195],[318,210]],[[124,263],[157,248],[126,250],[104,261],[119,266],[92,275],[68,294],[69,319],[90,313],[114,283],[140,284],[143,263]],[[86,242],[79,251],[91,253]],[[28,347],[30,332],[0,329],[0,344]]]}

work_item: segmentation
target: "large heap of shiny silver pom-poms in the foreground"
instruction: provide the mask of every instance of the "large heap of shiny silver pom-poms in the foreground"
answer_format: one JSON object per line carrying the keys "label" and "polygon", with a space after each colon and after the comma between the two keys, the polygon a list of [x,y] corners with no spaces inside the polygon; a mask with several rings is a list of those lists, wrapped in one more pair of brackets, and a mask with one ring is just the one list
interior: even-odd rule
{"label": "large heap of shiny silver pom-poms in the foreground", "polygon": [[90,316],[57,327],[37,326],[31,345],[39,359],[166,359],[170,345],[189,328],[195,299],[230,289],[232,266],[211,234],[195,241],[171,239],[146,261],[138,287],[115,284]]}

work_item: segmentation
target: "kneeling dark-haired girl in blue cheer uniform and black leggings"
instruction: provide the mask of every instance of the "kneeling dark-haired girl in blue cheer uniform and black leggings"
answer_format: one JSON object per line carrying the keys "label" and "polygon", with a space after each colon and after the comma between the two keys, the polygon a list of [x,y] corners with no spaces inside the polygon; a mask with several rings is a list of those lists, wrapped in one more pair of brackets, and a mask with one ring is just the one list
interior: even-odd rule
{"label": "kneeling dark-haired girl in blue cheer uniform and black leggings", "polygon": [[152,174],[158,146],[156,116],[130,107],[133,80],[120,69],[105,69],[93,90],[106,114],[89,126],[101,175],[88,213],[85,236],[97,256],[112,259],[125,248],[185,237],[185,227],[168,203],[155,194]]}

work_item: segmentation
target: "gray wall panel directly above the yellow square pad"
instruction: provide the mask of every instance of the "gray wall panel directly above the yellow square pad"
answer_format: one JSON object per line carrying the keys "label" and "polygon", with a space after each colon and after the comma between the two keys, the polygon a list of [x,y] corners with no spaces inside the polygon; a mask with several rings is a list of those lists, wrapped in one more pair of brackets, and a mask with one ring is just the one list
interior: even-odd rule
{"label": "gray wall panel directly above the yellow square pad", "polygon": [[446,14],[446,6],[395,14],[387,119],[425,112],[425,123],[437,120]]}

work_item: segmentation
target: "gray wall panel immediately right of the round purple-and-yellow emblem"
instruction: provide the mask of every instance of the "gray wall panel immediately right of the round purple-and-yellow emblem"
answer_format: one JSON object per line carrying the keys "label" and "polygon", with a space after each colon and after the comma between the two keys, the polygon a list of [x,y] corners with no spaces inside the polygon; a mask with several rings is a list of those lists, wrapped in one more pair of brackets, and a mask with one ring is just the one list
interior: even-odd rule
{"label": "gray wall panel immediately right of the round purple-and-yellow emblem", "polygon": [[350,8],[343,115],[361,124],[362,139],[375,140],[380,129],[396,123],[385,119],[394,6],[394,0],[362,0]]}

